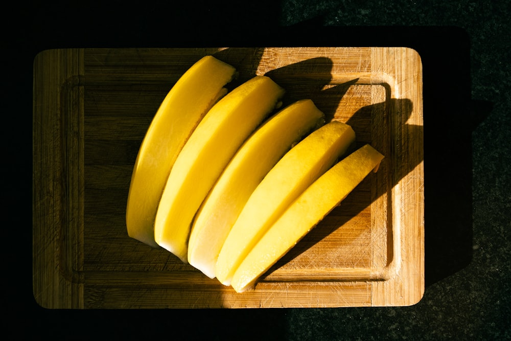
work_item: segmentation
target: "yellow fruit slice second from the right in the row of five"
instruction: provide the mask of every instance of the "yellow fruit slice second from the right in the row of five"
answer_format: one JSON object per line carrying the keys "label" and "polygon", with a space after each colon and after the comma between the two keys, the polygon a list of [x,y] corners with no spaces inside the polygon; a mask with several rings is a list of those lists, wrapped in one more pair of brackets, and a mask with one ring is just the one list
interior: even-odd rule
{"label": "yellow fruit slice second from the right in the row of five", "polygon": [[333,121],[294,146],[250,195],[218,256],[216,277],[229,285],[234,272],[268,228],[355,140],[355,132]]}

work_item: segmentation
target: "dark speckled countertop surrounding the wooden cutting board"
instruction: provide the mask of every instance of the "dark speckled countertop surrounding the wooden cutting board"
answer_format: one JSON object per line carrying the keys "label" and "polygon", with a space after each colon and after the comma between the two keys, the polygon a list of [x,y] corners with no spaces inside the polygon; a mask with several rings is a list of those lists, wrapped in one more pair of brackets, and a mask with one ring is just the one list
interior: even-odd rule
{"label": "dark speckled countertop surrounding the wooden cutting board", "polygon": [[[167,3],[32,2],[3,11],[2,307],[9,339],[511,338],[509,1]],[[35,303],[35,55],[52,48],[204,46],[406,46],[419,52],[426,198],[426,289],[419,303],[143,311],[47,310]]]}

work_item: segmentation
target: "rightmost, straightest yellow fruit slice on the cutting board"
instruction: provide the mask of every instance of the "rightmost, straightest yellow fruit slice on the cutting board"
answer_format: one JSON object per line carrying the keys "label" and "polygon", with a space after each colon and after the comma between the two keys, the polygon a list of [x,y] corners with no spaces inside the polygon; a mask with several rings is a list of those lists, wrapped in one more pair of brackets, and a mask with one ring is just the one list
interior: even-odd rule
{"label": "rightmost, straightest yellow fruit slice on the cutting board", "polygon": [[236,270],[231,285],[237,292],[251,288],[277,260],[377,169],[383,155],[365,145],[319,177],[278,218]]}

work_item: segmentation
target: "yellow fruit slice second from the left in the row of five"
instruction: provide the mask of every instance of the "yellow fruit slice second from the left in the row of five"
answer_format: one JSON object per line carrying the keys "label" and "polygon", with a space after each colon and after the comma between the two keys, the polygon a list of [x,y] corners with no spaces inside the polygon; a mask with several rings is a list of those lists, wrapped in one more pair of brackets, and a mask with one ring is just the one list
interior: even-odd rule
{"label": "yellow fruit slice second from the left in the row of five", "polygon": [[192,219],[242,143],[276,107],[284,89],[256,76],[215,104],[179,153],[156,213],[154,237],[188,262]]}

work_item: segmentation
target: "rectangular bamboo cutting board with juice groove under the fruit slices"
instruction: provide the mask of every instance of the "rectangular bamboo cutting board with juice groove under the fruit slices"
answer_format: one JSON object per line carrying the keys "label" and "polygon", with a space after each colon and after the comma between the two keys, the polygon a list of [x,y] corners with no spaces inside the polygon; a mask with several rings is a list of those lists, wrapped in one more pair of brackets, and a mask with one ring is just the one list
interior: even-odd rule
{"label": "rectangular bamboo cutting board with juice groove under the fruit slices", "polygon": [[[144,134],[206,54],[310,98],[385,155],[339,207],[236,293],[128,237]],[[69,49],[34,61],[33,289],[47,308],[404,306],[424,292],[422,64],[407,48]]]}

